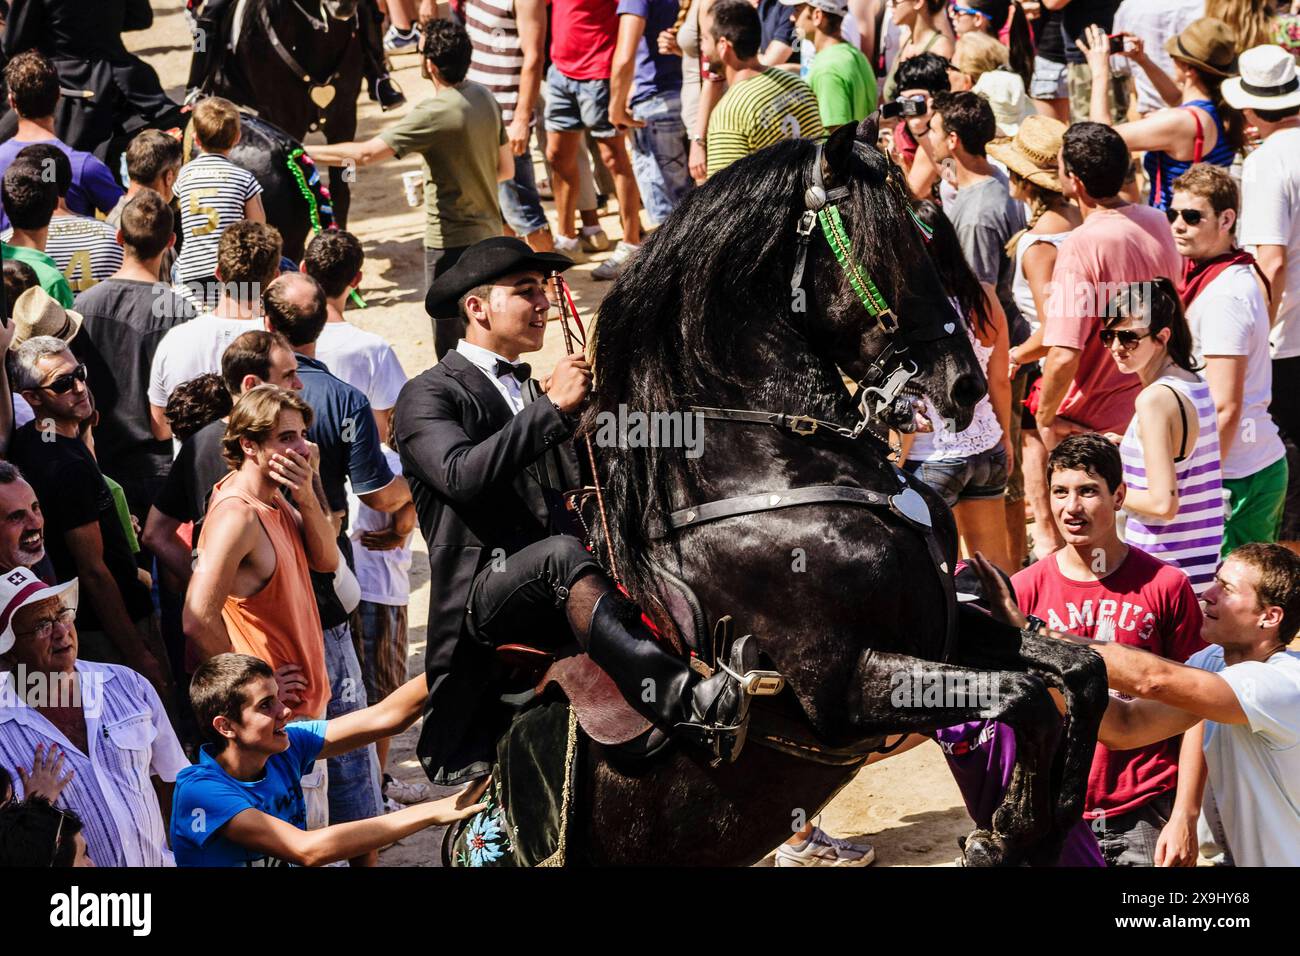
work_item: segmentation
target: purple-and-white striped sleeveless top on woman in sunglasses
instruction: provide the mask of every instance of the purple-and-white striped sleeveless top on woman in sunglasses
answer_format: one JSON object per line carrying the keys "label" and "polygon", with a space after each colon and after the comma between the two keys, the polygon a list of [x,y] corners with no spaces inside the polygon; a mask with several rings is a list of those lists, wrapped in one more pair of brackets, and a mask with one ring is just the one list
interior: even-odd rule
{"label": "purple-and-white striped sleeveless top on woman in sunglasses", "polygon": [[[1124,541],[1186,574],[1192,591],[1200,594],[1214,580],[1219,548],[1223,546],[1223,483],[1219,472],[1218,415],[1214,397],[1204,380],[1183,381],[1171,375],[1161,376],[1154,385],[1169,385],[1191,399],[1196,408],[1200,434],[1193,447],[1186,449],[1182,462],[1174,464],[1178,483],[1178,514],[1167,522],[1127,515]],[[1186,403],[1183,406],[1187,408]],[[1179,423],[1182,424],[1182,423]],[[1176,449],[1175,449],[1176,454]],[[1138,438],[1138,416],[1134,415],[1119,445],[1124,464],[1124,484],[1147,490],[1147,460]]]}

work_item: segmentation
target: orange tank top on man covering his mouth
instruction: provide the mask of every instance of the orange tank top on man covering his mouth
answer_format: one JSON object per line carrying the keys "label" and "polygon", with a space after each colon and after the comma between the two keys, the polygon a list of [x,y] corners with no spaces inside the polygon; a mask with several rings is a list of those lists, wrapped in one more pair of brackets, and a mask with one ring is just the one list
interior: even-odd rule
{"label": "orange tank top on man covering his mouth", "polygon": [[[226,475],[212,489],[208,515],[230,498],[246,502],[257,515],[263,531],[276,553],[276,570],[261,591],[250,597],[228,594],[221,606],[230,643],[240,654],[260,657],[272,667],[296,663],[307,675],[303,702],[294,708],[294,717],[322,718],[329,704],[329,675],[325,671],[325,635],[312,592],[307,550],[289,511],[289,502],[277,492],[268,505],[256,497],[230,488],[234,473]],[[204,522],[199,533],[199,551],[212,522]]]}

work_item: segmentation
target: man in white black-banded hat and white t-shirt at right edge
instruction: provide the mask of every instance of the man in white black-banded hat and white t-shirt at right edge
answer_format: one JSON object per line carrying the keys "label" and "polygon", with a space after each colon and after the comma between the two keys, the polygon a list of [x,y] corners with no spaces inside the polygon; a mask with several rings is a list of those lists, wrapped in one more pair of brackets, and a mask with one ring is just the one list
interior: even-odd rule
{"label": "man in white black-banded hat and white t-shirt at right edge", "polygon": [[[1300,377],[1300,77],[1282,47],[1242,53],[1242,75],[1223,81],[1223,99],[1245,113],[1264,143],[1242,166],[1242,228],[1271,290],[1273,380]],[[1269,406],[1288,442],[1300,442],[1300,389],[1279,388]],[[1292,476],[1300,485],[1300,476]],[[1288,493],[1280,540],[1300,553],[1300,488]]]}

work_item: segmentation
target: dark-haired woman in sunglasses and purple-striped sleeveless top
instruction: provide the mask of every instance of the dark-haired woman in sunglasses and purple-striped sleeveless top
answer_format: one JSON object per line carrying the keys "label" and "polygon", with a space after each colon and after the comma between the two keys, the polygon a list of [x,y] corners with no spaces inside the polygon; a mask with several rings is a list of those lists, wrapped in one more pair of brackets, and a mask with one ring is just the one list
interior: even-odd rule
{"label": "dark-haired woman in sunglasses and purple-striped sleeveless top", "polygon": [[1121,437],[1124,540],[1178,567],[1200,594],[1223,544],[1218,418],[1192,358],[1192,333],[1174,284],[1134,282],[1110,300],[1098,336],[1143,390]]}

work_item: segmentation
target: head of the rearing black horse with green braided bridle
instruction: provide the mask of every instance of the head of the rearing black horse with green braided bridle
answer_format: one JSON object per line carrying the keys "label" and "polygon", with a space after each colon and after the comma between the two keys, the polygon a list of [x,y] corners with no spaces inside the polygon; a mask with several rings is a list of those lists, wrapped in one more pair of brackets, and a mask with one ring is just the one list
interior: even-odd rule
{"label": "head of the rearing black horse with green braided bridle", "polygon": [[987,385],[965,330],[976,306],[965,299],[979,286],[945,289],[902,173],[876,148],[875,121],[836,130],[809,163],[806,186],[805,206],[819,213],[803,224],[812,229],[810,336],[867,386],[915,364],[911,385],[966,428]]}

